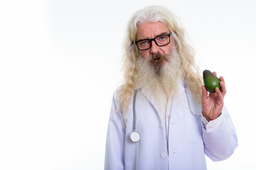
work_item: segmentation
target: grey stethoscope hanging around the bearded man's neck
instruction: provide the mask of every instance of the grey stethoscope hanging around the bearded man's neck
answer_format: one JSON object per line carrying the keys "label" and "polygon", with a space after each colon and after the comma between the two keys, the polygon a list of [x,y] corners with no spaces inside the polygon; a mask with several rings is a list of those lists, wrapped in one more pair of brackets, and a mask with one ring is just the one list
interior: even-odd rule
{"label": "grey stethoscope hanging around the bearded man's neck", "polygon": [[[193,116],[200,117],[201,115],[197,115],[197,114],[193,113],[193,111],[192,111],[192,109],[191,109],[190,100],[189,100],[189,94],[188,94],[188,91],[187,91],[187,89],[186,89],[186,87],[187,87],[186,83],[184,83],[183,86],[184,86],[184,89],[185,89],[185,92],[186,92],[186,98],[188,99],[188,104],[189,104],[189,111],[190,111],[190,113],[191,113]],[[140,134],[139,134],[139,132],[136,131],[136,111],[135,111],[136,94],[137,94],[137,89],[134,91],[133,104],[132,104],[132,109],[133,109],[133,131],[132,131],[132,133],[130,134],[130,140],[131,140],[132,142],[138,142],[139,139],[140,139]]]}

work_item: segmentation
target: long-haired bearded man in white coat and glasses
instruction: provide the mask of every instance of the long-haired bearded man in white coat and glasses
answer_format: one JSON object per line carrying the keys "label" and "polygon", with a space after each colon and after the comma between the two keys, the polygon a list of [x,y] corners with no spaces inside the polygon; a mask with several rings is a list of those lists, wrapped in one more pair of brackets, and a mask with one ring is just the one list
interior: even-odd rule
{"label": "long-haired bearded man in white coat and glasses", "polygon": [[205,155],[221,161],[234,153],[238,140],[224,105],[224,78],[216,93],[207,92],[186,38],[165,7],[146,7],[131,17],[105,170],[206,170]]}

